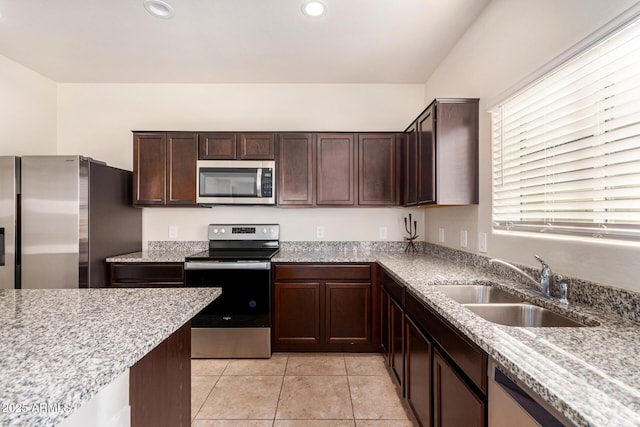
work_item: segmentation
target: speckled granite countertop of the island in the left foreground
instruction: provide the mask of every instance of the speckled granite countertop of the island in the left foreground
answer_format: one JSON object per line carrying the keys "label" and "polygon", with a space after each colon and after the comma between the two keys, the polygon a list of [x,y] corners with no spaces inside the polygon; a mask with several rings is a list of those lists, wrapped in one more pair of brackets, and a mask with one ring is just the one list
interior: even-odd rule
{"label": "speckled granite countertop of the island in the left foreground", "polygon": [[[60,423],[219,295],[218,288],[0,290],[0,425]],[[59,411],[30,410],[43,404]]]}

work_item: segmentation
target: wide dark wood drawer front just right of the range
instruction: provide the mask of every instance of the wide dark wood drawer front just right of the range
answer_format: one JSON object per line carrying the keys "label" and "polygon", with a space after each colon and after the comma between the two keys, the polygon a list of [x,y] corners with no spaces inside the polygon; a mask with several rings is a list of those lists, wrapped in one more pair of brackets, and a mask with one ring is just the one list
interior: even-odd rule
{"label": "wide dark wood drawer front just right of the range", "polygon": [[276,280],[371,280],[369,264],[275,264]]}

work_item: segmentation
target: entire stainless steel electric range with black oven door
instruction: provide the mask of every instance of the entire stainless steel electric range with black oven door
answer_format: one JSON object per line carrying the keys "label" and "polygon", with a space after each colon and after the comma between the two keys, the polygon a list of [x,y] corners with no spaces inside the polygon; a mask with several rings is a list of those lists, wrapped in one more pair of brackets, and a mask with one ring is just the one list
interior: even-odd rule
{"label": "entire stainless steel electric range with black oven door", "polygon": [[222,295],[191,321],[191,357],[271,357],[271,258],[279,234],[278,224],[209,225],[209,249],[185,259],[185,284],[222,288]]}

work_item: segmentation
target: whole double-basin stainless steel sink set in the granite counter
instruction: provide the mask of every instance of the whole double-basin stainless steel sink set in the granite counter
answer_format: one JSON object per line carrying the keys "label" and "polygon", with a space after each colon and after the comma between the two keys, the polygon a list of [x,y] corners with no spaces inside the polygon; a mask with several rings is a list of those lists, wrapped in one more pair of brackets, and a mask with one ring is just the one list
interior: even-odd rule
{"label": "whole double-basin stainless steel sink set in the granite counter", "polygon": [[438,285],[437,290],[489,322],[519,327],[582,327],[584,324],[487,285]]}

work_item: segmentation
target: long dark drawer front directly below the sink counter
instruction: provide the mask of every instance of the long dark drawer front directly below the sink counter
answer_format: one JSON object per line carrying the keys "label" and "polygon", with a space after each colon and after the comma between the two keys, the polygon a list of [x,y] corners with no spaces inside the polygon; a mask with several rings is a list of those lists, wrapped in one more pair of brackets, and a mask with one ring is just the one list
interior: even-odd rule
{"label": "long dark drawer front directly below the sink counter", "polygon": [[483,393],[487,392],[487,354],[427,308],[413,294],[405,295],[405,309]]}

